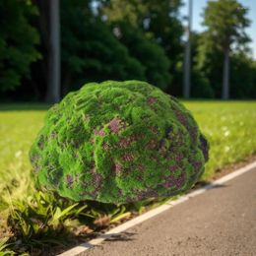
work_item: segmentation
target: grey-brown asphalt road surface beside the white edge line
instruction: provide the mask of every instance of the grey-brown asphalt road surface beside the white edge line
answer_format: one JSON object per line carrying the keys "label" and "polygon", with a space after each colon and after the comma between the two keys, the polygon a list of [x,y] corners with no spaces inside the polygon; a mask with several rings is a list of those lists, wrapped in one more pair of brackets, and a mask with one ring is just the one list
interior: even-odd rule
{"label": "grey-brown asphalt road surface beside the white edge line", "polygon": [[256,168],[81,255],[256,255]]}

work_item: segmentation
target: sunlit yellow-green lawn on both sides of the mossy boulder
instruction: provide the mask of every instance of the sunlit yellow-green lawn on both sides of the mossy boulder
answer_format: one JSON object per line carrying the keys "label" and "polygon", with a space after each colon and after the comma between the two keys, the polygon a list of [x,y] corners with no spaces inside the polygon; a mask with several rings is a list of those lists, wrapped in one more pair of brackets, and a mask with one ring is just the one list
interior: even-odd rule
{"label": "sunlit yellow-green lawn on both sides of the mossy boulder", "polygon": [[[256,153],[256,101],[184,101],[211,144],[202,179]],[[28,153],[46,105],[0,105],[0,209],[32,194]],[[1,213],[0,213],[1,214]],[[0,216],[1,217],[1,216]]]}

